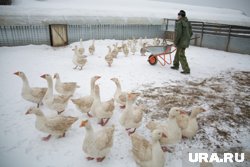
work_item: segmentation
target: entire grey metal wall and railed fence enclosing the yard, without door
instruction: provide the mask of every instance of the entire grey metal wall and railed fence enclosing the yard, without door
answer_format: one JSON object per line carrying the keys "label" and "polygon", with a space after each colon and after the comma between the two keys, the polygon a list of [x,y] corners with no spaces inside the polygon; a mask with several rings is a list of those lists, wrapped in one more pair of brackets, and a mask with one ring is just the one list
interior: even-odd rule
{"label": "entire grey metal wall and railed fence enclosing the yard, without door", "polygon": [[[229,52],[250,54],[250,27],[191,21],[195,40],[192,45]],[[165,19],[162,25],[84,24],[67,25],[67,43],[89,39],[125,40],[133,37],[174,38],[175,20]],[[28,44],[51,45],[49,25],[1,26],[0,46]]]}

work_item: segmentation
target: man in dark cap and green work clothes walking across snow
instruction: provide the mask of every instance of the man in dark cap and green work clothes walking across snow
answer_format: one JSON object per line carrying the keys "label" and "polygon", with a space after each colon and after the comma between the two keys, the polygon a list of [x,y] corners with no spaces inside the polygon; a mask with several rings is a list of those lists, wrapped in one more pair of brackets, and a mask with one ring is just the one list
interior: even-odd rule
{"label": "man in dark cap and green work clothes walking across snow", "polygon": [[189,47],[192,35],[192,27],[186,17],[186,12],[184,10],[180,10],[175,25],[174,45],[177,49],[174,57],[174,64],[171,69],[178,70],[179,64],[181,64],[183,70],[181,71],[182,74],[190,74],[190,68],[188,66],[187,58],[185,56],[185,50]]}

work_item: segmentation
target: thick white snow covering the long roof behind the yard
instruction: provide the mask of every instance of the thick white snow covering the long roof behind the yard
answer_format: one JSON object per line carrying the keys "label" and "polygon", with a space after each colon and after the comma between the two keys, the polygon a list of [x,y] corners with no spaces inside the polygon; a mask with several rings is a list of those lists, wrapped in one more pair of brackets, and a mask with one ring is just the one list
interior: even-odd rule
{"label": "thick white snow covering the long roof behind the yard", "polygon": [[0,6],[0,23],[155,25],[162,24],[163,18],[175,19],[180,9],[193,21],[250,26],[250,18],[238,10],[150,0],[16,0],[11,6]]}

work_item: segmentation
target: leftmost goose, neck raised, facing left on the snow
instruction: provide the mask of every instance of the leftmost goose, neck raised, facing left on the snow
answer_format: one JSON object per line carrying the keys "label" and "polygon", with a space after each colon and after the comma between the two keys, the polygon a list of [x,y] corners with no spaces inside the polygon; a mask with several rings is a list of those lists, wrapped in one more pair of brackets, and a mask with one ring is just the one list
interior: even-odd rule
{"label": "leftmost goose, neck raised, facing left on the snow", "polygon": [[37,107],[39,107],[39,105],[42,104],[42,100],[47,91],[47,88],[30,87],[29,81],[23,72],[18,71],[14,74],[19,76],[23,80],[23,88],[21,93],[23,99],[32,103],[36,103]]}

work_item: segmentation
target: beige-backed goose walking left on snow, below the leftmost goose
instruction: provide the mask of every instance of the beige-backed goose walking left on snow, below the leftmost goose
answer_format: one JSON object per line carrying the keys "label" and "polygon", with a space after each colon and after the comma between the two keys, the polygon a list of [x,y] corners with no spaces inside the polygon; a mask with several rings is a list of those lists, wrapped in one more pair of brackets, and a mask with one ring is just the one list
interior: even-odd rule
{"label": "beige-backed goose walking left on snow, below the leftmost goose", "polygon": [[48,141],[51,135],[65,137],[66,131],[78,119],[76,117],[62,115],[46,117],[43,112],[36,107],[29,108],[25,114],[34,114],[36,116],[36,129],[49,134],[42,138],[44,141]]}

